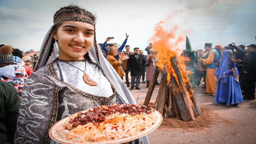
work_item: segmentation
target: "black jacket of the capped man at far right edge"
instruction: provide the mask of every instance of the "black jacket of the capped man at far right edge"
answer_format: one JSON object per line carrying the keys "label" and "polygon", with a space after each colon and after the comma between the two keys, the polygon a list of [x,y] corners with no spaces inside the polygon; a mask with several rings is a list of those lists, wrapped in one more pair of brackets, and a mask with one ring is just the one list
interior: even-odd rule
{"label": "black jacket of the capped man at far right edge", "polygon": [[245,58],[241,61],[244,64],[244,71],[247,72],[242,74],[242,79],[253,80],[256,79],[256,50],[252,50]]}

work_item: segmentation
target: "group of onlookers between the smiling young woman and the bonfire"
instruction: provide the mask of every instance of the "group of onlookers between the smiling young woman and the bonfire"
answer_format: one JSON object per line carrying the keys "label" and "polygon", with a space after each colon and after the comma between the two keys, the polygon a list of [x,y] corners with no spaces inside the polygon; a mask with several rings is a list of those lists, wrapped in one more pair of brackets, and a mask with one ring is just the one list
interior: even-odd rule
{"label": "group of onlookers between the smiling young woman and the bonfire", "polygon": [[[126,39],[124,40],[123,44],[120,48],[117,48],[116,44],[112,44],[110,48],[106,48],[106,44],[110,41],[110,37],[106,38],[106,41],[102,45],[102,52],[106,53],[106,59],[113,68],[116,70],[118,75],[123,79],[123,76],[126,78],[126,87],[130,87],[129,82],[129,72],[131,76],[131,88],[133,90],[134,87],[137,90],[140,90],[140,80],[142,79],[143,83],[147,83],[146,88],[149,87],[151,82],[152,76],[154,74],[154,70],[156,68],[156,52],[152,51],[153,44],[150,43],[149,46],[145,49],[148,54],[144,55],[143,50],[140,48],[134,48],[134,52],[130,51],[130,46],[126,45],[128,35],[126,33]],[[126,51],[121,51],[124,49]],[[146,73],[146,74],[145,74]],[[146,81],[145,81],[146,76]],[[156,85],[159,85],[156,82]]]}

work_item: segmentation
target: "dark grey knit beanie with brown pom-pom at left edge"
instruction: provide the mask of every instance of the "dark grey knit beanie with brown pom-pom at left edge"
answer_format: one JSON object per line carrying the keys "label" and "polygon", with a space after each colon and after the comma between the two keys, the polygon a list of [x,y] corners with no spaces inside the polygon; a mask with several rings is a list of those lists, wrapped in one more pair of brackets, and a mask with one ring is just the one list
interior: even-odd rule
{"label": "dark grey knit beanie with brown pom-pom at left edge", "polygon": [[14,64],[12,46],[2,46],[0,48],[0,67]]}

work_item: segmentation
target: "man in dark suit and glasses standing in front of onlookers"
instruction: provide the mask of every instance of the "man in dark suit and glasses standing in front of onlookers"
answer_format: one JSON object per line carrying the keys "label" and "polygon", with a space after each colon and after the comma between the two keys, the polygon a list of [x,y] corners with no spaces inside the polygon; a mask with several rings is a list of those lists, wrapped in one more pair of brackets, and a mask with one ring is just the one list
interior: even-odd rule
{"label": "man in dark suit and glasses standing in front of onlookers", "polygon": [[132,76],[132,87],[130,90],[134,89],[134,83],[136,79],[136,89],[140,90],[140,77],[143,75],[142,68],[145,66],[146,60],[143,55],[139,54],[139,48],[134,48],[134,54],[129,55],[127,60],[127,65],[130,67],[130,72]]}

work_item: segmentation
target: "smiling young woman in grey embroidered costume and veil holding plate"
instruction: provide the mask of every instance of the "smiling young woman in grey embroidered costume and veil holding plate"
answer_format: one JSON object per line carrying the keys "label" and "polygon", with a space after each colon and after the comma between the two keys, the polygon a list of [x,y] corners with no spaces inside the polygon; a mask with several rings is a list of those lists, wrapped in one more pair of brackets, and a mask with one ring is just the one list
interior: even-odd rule
{"label": "smiling young woman in grey embroidered costume and veil holding plate", "polygon": [[[35,71],[26,80],[16,144],[54,143],[50,128],[62,118],[105,104],[136,104],[96,42],[96,17],[78,6],[54,14]],[[144,136],[134,142],[147,144]]]}

